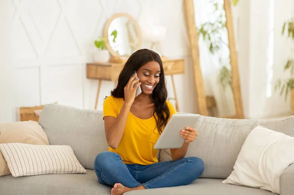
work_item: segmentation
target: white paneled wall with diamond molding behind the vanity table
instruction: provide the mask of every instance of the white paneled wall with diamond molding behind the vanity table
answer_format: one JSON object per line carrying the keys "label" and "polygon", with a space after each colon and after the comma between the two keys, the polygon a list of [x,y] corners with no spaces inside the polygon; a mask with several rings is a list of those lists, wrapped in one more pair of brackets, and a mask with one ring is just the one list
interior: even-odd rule
{"label": "white paneled wall with diamond molding behind the vanity table", "polygon": [[[93,42],[102,35],[105,22],[118,12],[134,17],[142,30],[147,23],[167,27],[163,54],[186,60],[185,75],[174,76],[180,111],[196,113],[182,0],[0,0],[0,7],[7,11],[5,22],[11,25],[10,30],[0,24],[1,31],[11,36],[7,43],[11,59],[0,66],[1,94],[5,94],[0,104],[5,106],[0,116],[5,117],[0,122],[15,121],[14,109],[23,106],[58,102],[93,109],[98,82],[86,78],[86,63],[92,62]],[[169,77],[167,81],[173,96]],[[98,109],[113,87],[114,83],[103,81]]]}

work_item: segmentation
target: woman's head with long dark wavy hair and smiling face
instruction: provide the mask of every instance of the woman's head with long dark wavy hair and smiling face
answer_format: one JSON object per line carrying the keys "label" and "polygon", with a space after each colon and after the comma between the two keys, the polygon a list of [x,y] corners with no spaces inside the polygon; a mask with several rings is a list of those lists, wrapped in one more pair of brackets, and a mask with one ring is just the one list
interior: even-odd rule
{"label": "woman's head with long dark wavy hair and smiling face", "polygon": [[[139,95],[136,100],[141,102],[140,100],[142,100],[142,98],[143,100],[147,98],[145,103],[154,103],[154,113],[158,116],[156,124],[158,130],[162,131],[163,127],[167,124],[170,113],[165,103],[168,97],[168,91],[166,88],[164,70],[161,58],[157,53],[148,49],[140,49],[133,53],[125,63],[119,76],[118,85],[111,92],[111,95],[116,98],[125,98],[125,86],[129,82],[134,71],[137,72],[141,84],[143,83],[143,85],[140,84],[142,94]],[[151,95],[152,98],[150,98],[149,95]],[[133,102],[131,102],[131,104],[132,103]],[[133,111],[132,108],[131,111]]]}

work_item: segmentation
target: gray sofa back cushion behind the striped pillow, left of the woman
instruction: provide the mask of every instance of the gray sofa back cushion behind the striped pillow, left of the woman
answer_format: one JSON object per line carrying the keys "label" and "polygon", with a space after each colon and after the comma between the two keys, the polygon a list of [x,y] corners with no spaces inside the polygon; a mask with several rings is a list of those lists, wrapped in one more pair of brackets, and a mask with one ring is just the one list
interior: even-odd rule
{"label": "gray sofa back cushion behind the striped pillow, left of the woman", "polygon": [[46,132],[50,145],[69,145],[81,165],[94,170],[94,160],[99,152],[107,151],[101,110],[86,110],[46,105],[39,124]]}

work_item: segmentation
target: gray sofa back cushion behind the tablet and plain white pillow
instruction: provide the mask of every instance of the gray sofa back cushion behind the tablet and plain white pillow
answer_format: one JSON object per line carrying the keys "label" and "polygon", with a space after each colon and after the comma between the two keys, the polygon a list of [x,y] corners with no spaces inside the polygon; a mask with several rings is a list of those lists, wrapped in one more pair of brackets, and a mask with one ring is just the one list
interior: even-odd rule
{"label": "gray sofa back cushion behind the tablet and plain white pillow", "polygon": [[[294,136],[294,116],[273,120],[221,119],[200,116],[195,129],[198,136],[189,146],[186,156],[197,156],[205,168],[200,178],[226,179],[249,132],[261,125]],[[170,150],[161,150],[160,161],[171,160]]]}

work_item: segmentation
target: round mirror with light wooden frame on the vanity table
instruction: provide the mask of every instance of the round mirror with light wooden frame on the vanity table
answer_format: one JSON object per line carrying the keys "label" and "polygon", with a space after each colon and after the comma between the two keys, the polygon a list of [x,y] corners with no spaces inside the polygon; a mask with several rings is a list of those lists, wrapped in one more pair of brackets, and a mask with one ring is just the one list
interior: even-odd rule
{"label": "round mirror with light wooden frame on the vanity table", "polygon": [[105,25],[106,48],[112,56],[129,57],[141,48],[141,29],[135,19],[125,13],[113,15]]}

